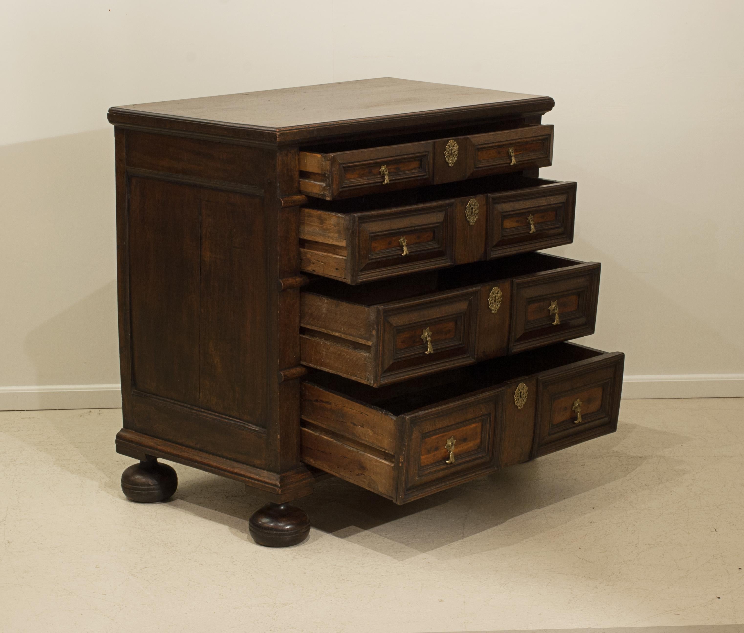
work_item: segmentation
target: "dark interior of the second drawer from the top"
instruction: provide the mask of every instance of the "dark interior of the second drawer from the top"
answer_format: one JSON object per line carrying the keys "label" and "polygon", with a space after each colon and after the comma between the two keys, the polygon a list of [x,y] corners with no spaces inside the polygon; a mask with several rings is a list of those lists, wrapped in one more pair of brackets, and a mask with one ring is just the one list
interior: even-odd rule
{"label": "dark interior of the second drawer from the top", "polygon": [[554,182],[556,181],[521,176],[519,173],[504,174],[503,176],[487,176],[485,178],[434,184],[429,187],[417,187],[415,189],[404,189],[390,193],[371,193],[366,196],[341,200],[312,198],[304,206],[321,211],[333,211],[334,213],[376,211],[378,209],[418,205],[424,202],[437,202],[437,200],[530,189],[543,184],[554,184]]}

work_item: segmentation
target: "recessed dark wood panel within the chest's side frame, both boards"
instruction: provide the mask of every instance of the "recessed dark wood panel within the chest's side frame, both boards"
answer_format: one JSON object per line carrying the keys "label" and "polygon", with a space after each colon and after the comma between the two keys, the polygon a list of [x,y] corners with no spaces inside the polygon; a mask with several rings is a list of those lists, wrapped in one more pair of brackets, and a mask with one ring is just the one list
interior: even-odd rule
{"label": "recessed dark wood panel within the chest's side frame, both boards", "polygon": [[138,176],[129,191],[133,391],[265,426],[263,199]]}

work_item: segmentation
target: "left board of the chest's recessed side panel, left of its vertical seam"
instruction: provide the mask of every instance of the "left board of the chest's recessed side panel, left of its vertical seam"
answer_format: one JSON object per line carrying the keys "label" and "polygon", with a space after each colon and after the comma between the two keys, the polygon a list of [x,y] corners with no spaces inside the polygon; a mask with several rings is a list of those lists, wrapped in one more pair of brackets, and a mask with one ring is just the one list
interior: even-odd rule
{"label": "left board of the chest's recessed side panel, left of its vertical seam", "polygon": [[129,179],[132,388],[199,404],[201,203],[186,184]]}

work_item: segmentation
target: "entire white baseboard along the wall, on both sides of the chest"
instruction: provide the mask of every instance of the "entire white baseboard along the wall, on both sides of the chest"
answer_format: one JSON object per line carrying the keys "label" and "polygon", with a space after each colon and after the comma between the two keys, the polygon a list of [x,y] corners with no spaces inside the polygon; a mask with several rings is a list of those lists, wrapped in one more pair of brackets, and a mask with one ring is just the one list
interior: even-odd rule
{"label": "entire white baseboard along the wall, on both sides of the chest", "polygon": [[[744,373],[682,373],[625,376],[623,398],[742,398]],[[0,411],[28,409],[114,409],[121,388],[112,385],[0,387]]]}

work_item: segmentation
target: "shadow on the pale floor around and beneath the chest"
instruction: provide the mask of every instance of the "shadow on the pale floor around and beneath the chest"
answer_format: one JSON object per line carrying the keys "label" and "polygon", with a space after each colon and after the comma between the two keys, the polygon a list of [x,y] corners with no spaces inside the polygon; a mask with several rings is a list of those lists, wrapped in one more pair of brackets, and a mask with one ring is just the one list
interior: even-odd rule
{"label": "shadow on the pale floor around and beneath the chest", "polygon": [[[31,433],[23,439],[62,469],[97,481],[124,503],[119,478],[132,460],[114,452],[121,411],[54,413],[60,414],[59,419],[52,418],[56,437]],[[509,547],[545,531],[561,530],[627,495],[664,486],[687,471],[681,461],[662,452],[689,441],[682,434],[621,419],[615,434],[403,506],[338,478],[318,481],[315,492],[297,505],[307,511],[315,528],[311,543],[333,537],[397,560],[434,551],[437,559],[449,559],[459,556],[464,539],[469,539],[471,555]],[[248,517],[265,502],[237,481],[174,466],[179,489],[170,507],[225,525],[237,538],[246,539]],[[650,470],[652,476],[638,474],[641,469]],[[629,477],[632,483],[623,481]],[[572,502],[561,504],[567,499]],[[548,507],[551,510],[545,511]]]}

